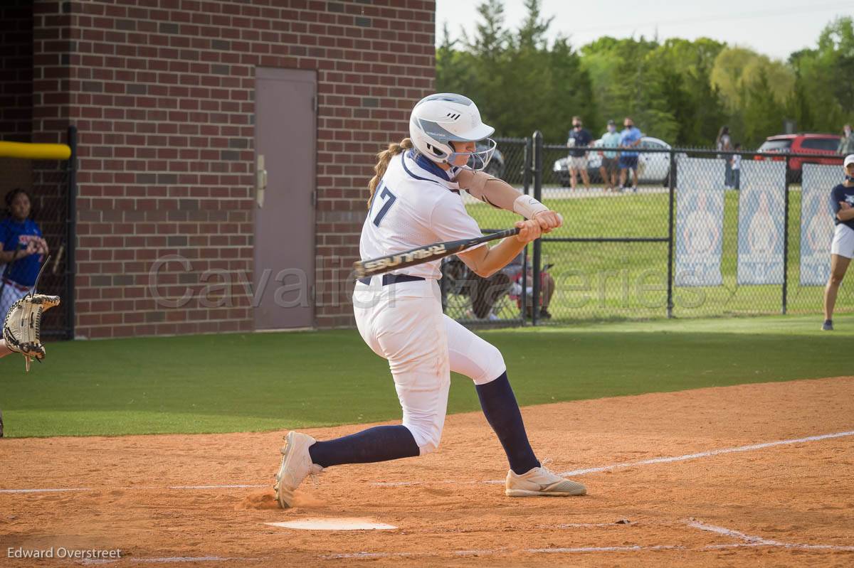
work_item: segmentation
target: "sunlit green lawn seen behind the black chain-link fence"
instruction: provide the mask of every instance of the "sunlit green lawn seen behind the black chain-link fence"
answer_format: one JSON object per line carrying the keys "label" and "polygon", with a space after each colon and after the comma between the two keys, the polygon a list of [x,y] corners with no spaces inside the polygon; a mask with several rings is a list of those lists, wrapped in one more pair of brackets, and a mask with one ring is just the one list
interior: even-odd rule
{"label": "sunlit green lawn seen behind the black chain-link fence", "polygon": [[[569,192],[569,190],[567,190]],[[789,194],[787,313],[821,313],[823,287],[801,287],[800,191]],[[715,317],[781,313],[781,286],[739,286],[738,192],[725,194],[722,277],[719,287],[675,287],[674,315]],[[669,195],[621,194],[544,200],[564,216],[556,237],[666,237]],[[467,206],[482,228],[512,226],[518,219],[486,204]],[[782,212],[781,212],[782,214]],[[556,293],[550,311],[556,321],[651,319],[666,316],[667,243],[544,242],[545,263],[554,263]],[[828,259],[829,262],[829,259]],[[843,286],[839,310],[851,311],[854,288]],[[506,304],[500,316],[514,316]]]}

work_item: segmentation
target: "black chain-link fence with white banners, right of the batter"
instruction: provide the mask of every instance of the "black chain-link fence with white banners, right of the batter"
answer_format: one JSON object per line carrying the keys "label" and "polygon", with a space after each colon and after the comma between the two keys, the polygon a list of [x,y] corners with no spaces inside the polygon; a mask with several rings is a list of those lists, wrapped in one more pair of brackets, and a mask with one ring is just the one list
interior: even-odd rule
{"label": "black chain-link fence with white banners, right of the batter", "polygon": [[[505,158],[501,177],[560,212],[564,227],[488,281],[447,260],[449,316],[506,325],[822,312],[841,157],[649,138],[636,151],[573,148],[580,156],[537,136],[499,148],[522,161],[508,169],[516,161]],[[518,219],[464,198],[484,232]],[[842,287],[837,311],[852,299]]]}

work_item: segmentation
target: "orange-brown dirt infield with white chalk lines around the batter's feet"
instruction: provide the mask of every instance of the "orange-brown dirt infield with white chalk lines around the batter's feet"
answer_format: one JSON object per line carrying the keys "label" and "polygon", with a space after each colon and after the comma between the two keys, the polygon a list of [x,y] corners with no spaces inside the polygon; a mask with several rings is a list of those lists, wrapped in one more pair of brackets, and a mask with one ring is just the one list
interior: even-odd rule
{"label": "orange-brown dirt infield with white chalk lines around the batter's feet", "polygon": [[[434,455],[330,468],[288,511],[270,489],[283,432],[3,439],[0,564],[94,564],[6,558],[53,547],[118,548],[120,560],[98,562],[111,566],[854,565],[854,377],[557,403],[524,418],[555,471],[594,470],[576,477],[588,496],[510,499],[484,483],[506,462],[481,414],[449,417]],[[224,485],[243,487],[210,487]],[[265,525],[312,518],[398,528]]]}

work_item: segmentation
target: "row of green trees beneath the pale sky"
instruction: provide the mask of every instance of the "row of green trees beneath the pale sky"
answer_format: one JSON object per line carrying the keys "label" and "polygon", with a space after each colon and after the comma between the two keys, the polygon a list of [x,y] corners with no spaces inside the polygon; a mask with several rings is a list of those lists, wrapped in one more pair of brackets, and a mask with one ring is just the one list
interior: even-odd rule
{"label": "row of green trees beneath the pale sky", "polygon": [[436,49],[436,90],[477,101],[499,136],[541,130],[563,143],[574,115],[594,136],[608,119],[635,119],[649,136],[682,147],[714,146],[728,125],[733,140],[757,148],[781,134],[840,133],[854,122],[854,19],[825,26],[816,45],[775,61],[714,39],[603,37],[573,49],[547,40],[551,18],[525,0],[526,18],[506,26],[502,0],[483,0],[471,37],[452,39],[447,24]]}

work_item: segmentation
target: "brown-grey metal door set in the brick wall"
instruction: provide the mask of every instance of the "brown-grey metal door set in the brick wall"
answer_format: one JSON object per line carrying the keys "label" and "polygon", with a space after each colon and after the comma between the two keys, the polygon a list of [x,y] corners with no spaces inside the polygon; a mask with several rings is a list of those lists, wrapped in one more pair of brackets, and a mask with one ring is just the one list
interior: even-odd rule
{"label": "brown-grey metal door set in the brick wall", "polygon": [[255,329],[313,327],[316,75],[255,72]]}

